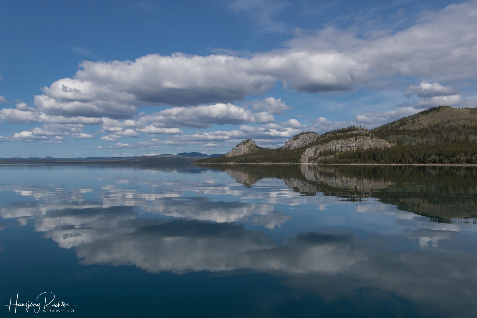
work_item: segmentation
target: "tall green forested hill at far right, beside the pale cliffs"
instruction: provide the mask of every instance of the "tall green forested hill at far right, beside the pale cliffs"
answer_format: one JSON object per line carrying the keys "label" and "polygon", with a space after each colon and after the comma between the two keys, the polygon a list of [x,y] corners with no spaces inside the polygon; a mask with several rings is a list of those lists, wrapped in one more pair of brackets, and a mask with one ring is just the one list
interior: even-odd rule
{"label": "tall green forested hill at far right, beside the pale cliffs", "polygon": [[322,162],[477,164],[477,108],[432,107],[371,132],[392,147],[337,152]]}

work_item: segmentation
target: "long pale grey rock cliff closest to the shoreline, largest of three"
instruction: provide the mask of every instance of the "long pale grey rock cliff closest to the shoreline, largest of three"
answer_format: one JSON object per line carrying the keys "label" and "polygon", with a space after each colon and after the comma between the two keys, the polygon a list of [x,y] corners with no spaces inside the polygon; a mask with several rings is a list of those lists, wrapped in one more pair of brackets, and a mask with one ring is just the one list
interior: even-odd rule
{"label": "long pale grey rock cliff closest to the shoreline, largest of three", "polygon": [[[371,147],[391,147],[384,139],[372,139],[371,137],[367,136],[359,136],[357,140],[355,137],[352,138],[345,138],[345,139],[338,139],[333,140],[326,144],[319,144],[315,146],[311,146],[307,148],[303,154],[301,155],[301,163],[302,164],[309,164],[314,163],[317,161],[321,161],[325,158],[325,156],[320,156],[320,152],[325,152],[329,150],[336,149],[337,151],[350,151],[350,150],[358,150],[358,147],[361,149],[367,149]],[[331,156],[332,157],[332,156]],[[330,158],[330,156],[326,156],[326,158]]]}

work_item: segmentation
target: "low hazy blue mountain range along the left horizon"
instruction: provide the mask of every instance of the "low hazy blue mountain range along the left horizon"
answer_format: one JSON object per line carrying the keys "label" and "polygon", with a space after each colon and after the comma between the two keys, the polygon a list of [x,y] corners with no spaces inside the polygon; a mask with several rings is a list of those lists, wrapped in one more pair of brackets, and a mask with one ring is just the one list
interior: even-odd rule
{"label": "low hazy blue mountain range along the left horizon", "polygon": [[0,164],[188,164],[197,159],[214,158],[223,154],[158,154],[143,157],[86,157],[86,158],[0,158]]}

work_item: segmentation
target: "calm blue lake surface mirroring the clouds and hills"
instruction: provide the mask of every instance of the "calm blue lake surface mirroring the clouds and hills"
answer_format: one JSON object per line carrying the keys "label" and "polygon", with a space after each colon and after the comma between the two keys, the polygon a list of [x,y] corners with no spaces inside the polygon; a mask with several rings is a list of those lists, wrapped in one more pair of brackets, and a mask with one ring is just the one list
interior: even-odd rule
{"label": "calm blue lake surface mirroring the clouds and hills", "polygon": [[[41,303],[0,317],[477,316],[476,167],[2,165],[0,176],[1,305]],[[43,312],[52,293],[75,307],[46,310],[74,312]]]}

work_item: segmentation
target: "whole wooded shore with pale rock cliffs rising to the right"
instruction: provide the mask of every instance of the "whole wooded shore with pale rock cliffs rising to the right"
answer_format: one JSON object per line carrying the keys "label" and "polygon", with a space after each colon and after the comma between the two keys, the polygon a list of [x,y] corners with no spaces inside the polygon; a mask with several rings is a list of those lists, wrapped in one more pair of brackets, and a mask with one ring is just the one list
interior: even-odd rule
{"label": "whole wooded shore with pale rock cliffs rising to the right", "polygon": [[373,130],[300,133],[267,149],[247,140],[197,163],[477,164],[477,108],[438,106]]}

